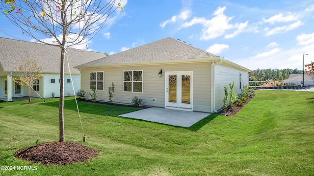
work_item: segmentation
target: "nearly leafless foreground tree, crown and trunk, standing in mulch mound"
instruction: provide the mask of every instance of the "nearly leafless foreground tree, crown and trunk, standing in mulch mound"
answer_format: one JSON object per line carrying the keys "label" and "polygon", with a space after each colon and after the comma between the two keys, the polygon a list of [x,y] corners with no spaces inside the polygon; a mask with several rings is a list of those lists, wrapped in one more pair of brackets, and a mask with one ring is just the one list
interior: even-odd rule
{"label": "nearly leafless foreground tree, crown and trunk, standing in mulch mound", "polygon": [[[1,0],[0,9],[14,25],[41,43],[60,47],[59,141],[64,141],[64,62],[67,47],[87,44],[109,15],[122,9],[115,0]],[[89,38],[88,38],[89,37]]]}

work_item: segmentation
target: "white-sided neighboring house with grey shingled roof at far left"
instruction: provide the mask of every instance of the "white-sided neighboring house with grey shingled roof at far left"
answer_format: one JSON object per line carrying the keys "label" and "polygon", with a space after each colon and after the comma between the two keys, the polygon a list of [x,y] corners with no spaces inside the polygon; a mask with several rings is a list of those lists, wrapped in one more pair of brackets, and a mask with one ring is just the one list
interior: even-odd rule
{"label": "white-sided neighboring house with grey shingled roof at far left", "polygon": [[[25,63],[26,59],[33,59],[39,66],[42,66],[42,76],[33,86],[31,96],[43,98],[59,96],[60,92],[60,48],[57,45],[38,44],[20,40],[0,38],[0,98],[12,101],[12,97],[28,96],[28,87],[21,86],[14,82],[19,66]],[[67,49],[70,71],[75,91],[80,89],[80,73],[74,68],[79,64],[103,58],[105,54]],[[65,61],[64,94],[74,95],[70,79],[67,60]]]}

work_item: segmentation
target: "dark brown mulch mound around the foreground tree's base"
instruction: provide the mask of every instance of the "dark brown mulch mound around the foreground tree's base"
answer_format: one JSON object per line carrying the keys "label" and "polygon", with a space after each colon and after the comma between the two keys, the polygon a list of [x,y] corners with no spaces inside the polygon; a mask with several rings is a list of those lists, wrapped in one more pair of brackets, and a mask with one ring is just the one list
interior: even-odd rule
{"label": "dark brown mulch mound around the foreground tree's base", "polygon": [[33,163],[69,165],[87,161],[99,152],[75,142],[48,142],[18,150],[15,156]]}

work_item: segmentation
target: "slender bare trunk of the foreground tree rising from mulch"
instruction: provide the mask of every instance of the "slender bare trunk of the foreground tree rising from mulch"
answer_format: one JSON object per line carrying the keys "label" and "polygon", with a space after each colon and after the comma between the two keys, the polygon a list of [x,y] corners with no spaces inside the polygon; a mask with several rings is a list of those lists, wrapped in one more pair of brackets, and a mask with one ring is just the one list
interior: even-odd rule
{"label": "slender bare trunk of the foreground tree rising from mulch", "polygon": [[60,100],[59,100],[59,141],[64,142],[64,47],[61,49],[61,64],[60,64]]}

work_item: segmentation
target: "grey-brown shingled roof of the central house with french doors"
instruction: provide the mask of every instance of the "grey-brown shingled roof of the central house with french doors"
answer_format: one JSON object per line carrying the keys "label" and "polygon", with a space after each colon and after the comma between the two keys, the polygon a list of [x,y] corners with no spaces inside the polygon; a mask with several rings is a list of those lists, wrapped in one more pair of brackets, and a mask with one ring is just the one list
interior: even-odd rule
{"label": "grey-brown shingled roof of the central house with french doors", "polygon": [[186,44],[177,39],[168,37],[156,42],[152,42],[150,44],[144,44],[76,67],[81,68],[131,63],[143,64],[143,62],[164,62],[171,60],[212,57],[217,56],[200,48],[194,47],[190,44]]}

